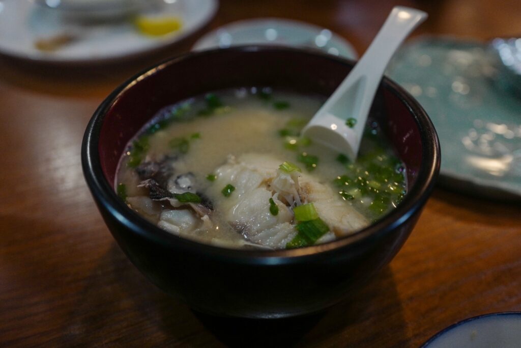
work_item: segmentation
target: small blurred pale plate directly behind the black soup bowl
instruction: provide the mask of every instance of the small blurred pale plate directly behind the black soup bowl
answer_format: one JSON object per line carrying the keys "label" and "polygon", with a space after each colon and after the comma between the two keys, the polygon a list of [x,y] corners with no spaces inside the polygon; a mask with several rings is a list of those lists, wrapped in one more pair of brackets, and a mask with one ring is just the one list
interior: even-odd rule
{"label": "small blurred pale plate directly behind the black soup bowl", "polygon": [[344,58],[356,59],[353,46],[329,29],[279,18],[241,20],[205,34],[193,50],[237,45],[285,45],[311,47]]}

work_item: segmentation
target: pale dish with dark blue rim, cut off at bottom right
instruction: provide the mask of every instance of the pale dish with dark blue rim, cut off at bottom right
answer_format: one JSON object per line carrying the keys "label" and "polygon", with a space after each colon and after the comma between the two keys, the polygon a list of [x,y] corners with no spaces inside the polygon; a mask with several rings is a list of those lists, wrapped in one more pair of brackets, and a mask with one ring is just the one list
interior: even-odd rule
{"label": "pale dish with dark blue rim, cut off at bottom right", "polygon": [[521,312],[465,319],[440,332],[421,348],[519,348]]}

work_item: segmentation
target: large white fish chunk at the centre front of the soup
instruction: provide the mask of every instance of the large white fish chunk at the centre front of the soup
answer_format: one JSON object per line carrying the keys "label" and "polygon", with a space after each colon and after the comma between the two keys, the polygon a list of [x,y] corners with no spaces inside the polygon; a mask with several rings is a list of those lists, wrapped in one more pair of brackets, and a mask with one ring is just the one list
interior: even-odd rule
{"label": "large white fish chunk at the centre front of the soup", "polygon": [[[282,162],[272,155],[249,153],[230,157],[215,171],[213,195],[221,195],[220,189],[228,184],[235,187],[230,197],[216,202],[216,209],[224,212],[226,221],[247,239],[267,247],[286,247],[296,235],[291,208],[307,202],[313,202],[334,235],[350,234],[368,224],[330,186],[321,184],[311,174],[282,172]],[[277,215],[269,211],[270,198],[279,208]],[[328,233],[319,241],[332,238],[332,233]]]}

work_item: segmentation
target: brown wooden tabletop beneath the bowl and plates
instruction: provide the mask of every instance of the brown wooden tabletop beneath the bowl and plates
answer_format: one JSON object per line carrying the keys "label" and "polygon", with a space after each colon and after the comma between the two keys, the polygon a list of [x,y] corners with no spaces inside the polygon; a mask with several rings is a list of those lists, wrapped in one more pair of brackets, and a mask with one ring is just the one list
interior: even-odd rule
{"label": "brown wooden tabletop beneath the bowl and plates", "polygon": [[[348,301],[307,318],[193,313],[150,284],[116,245],[80,165],[83,131],[120,82],[252,17],[325,26],[363,52],[395,1],[222,0],[194,37],[139,61],[59,67],[0,59],[0,346],[417,347],[467,317],[521,310],[519,205],[436,188],[412,235]],[[403,1],[415,33],[486,40],[521,33],[518,0]]]}

